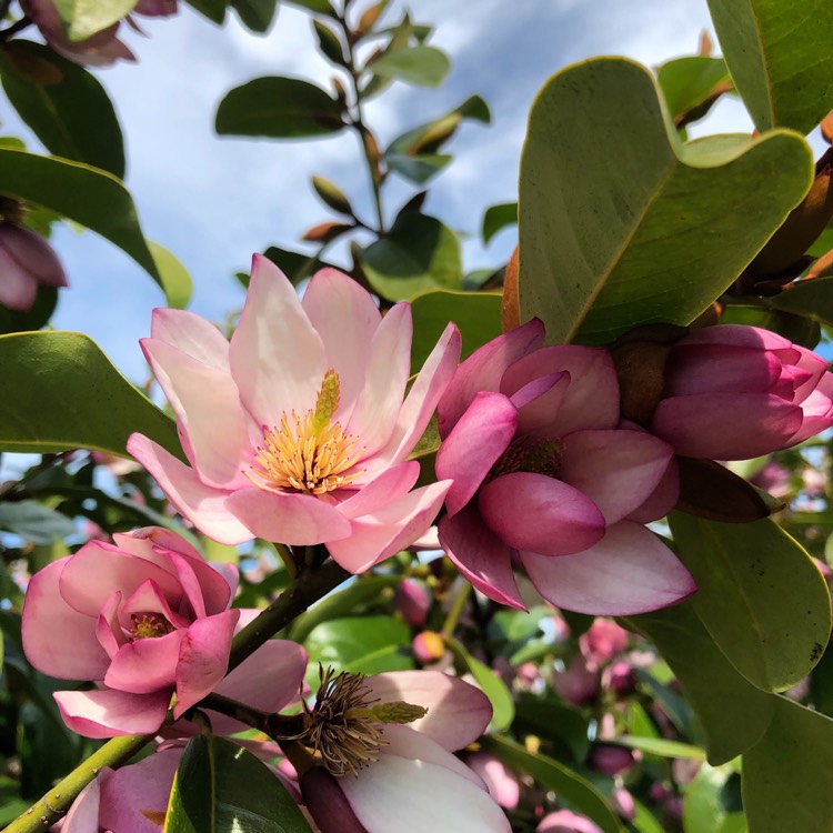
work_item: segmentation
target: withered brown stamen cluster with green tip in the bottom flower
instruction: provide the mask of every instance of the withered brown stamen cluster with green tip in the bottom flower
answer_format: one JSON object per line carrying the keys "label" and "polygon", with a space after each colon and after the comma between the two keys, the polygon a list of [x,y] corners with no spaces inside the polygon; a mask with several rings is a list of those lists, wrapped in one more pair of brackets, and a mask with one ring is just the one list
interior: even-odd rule
{"label": "withered brown stamen cluster with green tip in the bottom flower", "polygon": [[388,742],[379,724],[412,723],[426,709],[411,703],[380,703],[364,684],[364,674],[319,668],[321,685],[315,704],[303,709],[307,729],[299,737],[304,746],[317,752],[330,774],[352,773],[379,760],[379,750]]}

